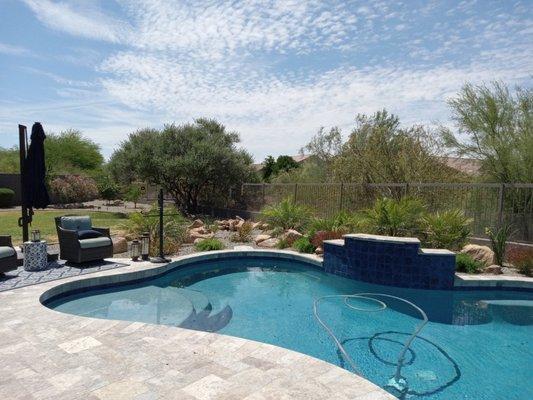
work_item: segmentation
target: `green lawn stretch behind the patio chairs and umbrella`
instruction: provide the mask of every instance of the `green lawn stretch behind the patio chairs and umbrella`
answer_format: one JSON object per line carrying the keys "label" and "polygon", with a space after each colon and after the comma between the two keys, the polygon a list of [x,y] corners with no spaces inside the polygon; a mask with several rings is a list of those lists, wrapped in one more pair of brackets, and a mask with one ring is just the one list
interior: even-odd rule
{"label": "green lawn stretch behind the patio chairs and umbrella", "polygon": [[[121,226],[127,220],[124,213],[106,212],[106,211],[35,211],[33,222],[30,225],[32,229],[41,231],[41,238],[49,243],[57,243],[57,233],[54,218],[62,215],[89,215],[92,219],[93,226],[99,228],[110,228],[112,234],[122,232]],[[11,235],[14,245],[22,243],[22,228],[18,226],[20,211],[0,211],[0,235]]]}

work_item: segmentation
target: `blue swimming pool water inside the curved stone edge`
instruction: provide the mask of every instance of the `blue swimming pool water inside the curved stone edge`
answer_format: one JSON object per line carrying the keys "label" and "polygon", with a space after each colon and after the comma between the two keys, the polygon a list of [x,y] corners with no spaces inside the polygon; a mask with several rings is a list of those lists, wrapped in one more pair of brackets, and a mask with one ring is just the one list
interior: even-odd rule
{"label": "blue swimming pool water inside the curved stone edge", "polygon": [[[408,305],[381,298],[382,311],[324,299],[319,316],[372,382],[400,398],[533,399],[533,294],[428,291],[369,285],[297,261],[234,258],[196,263],[132,285],[46,303],[57,311],[216,331],[293,349],[350,369],[317,323],[315,299],[385,293],[421,307],[429,323],[407,352],[403,392],[387,387],[402,343],[420,323]],[[377,309],[367,300],[350,300]],[[171,349],[169,349],[171,351]]]}

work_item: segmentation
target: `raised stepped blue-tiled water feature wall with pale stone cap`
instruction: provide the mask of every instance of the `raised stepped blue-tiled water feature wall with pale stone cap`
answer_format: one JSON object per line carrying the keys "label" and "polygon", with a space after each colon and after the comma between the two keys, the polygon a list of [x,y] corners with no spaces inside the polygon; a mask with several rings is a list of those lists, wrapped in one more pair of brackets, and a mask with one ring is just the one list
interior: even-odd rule
{"label": "raised stepped blue-tiled water feature wall with pale stone cap", "polygon": [[324,241],[324,270],[378,285],[448,290],[455,254],[423,249],[416,238],[351,234]]}

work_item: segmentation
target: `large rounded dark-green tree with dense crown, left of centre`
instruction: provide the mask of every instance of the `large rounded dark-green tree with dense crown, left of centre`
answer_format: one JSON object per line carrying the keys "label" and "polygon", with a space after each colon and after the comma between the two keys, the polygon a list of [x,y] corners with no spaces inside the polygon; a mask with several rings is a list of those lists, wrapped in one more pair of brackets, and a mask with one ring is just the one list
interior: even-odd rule
{"label": "large rounded dark-green tree with dense crown, left of centre", "polygon": [[210,119],[145,129],[121,144],[109,168],[115,179],[161,186],[180,210],[195,213],[200,201],[226,199],[231,187],[252,179],[252,158],[237,143],[237,133]]}

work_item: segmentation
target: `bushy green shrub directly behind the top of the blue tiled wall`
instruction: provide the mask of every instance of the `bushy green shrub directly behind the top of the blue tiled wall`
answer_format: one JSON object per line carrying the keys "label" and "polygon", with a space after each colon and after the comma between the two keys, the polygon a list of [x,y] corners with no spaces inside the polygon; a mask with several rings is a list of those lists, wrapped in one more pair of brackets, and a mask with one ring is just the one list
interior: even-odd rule
{"label": "bushy green shrub directly behind the top of the blue tiled wall", "polygon": [[424,206],[416,199],[382,198],[360,214],[361,229],[368,233],[388,236],[413,235],[424,214]]}

